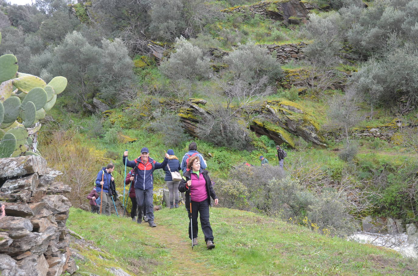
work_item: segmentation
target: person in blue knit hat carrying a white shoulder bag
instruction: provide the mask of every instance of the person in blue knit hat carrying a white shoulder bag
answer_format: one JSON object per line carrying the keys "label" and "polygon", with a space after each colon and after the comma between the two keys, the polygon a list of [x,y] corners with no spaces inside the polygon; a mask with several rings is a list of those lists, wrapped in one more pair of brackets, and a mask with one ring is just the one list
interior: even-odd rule
{"label": "person in blue knit hat carrying a white shoulder bag", "polygon": [[[170,209],[172,209],[174,207],[178,208],[178,184],[180,184],[180,181],[173,181],[171,172],[180,171],[180,162],[178,162],[178,158],[174,155],[173,150],[168,150],[167,153],[169,155],[168,163],[167,166],[165,166],[163,169],[164,171],[166,171],[166,177],[164,178],[164,180],[166,181],[168,187]],[[178,176],[180,176],[180,173],[178,173]]]}

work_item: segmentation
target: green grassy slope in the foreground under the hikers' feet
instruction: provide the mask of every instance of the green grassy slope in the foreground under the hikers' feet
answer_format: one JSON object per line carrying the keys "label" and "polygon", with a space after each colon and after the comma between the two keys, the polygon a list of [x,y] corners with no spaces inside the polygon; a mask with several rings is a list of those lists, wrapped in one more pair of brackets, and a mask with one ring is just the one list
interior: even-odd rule
{"label": "green grassy slope in the foreground under the hikers' feet", "polygon": [[[191,250],[184,208],[155,212],[157,228],[130,218],[99,216],[71,208],[67,227],[108,252],[103,260],[88,246],[79,271],[111,275],[117,266],[131,275],[416,275],[416,262],[394,251],[330,238],[266,216],[211,208],[216,248]],[[104,254],[105,255],[105,254]]]}

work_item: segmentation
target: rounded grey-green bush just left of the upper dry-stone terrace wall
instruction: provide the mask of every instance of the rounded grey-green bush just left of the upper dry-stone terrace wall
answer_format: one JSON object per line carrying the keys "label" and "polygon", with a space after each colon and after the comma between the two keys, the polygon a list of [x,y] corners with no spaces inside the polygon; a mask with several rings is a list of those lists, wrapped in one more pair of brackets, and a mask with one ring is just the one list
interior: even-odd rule
{"label": "rounded grey-green bush just left of the upper dry-stone terrace wall", "polygon": [[264,76],[268,77],[269,82],[275,82],[283,77],[276,59],[267,49],[255,45],[252,41],[241,44],[224,60],[229,64],[229,69],[236,78],[243,78],[249,83],[257,82]]}

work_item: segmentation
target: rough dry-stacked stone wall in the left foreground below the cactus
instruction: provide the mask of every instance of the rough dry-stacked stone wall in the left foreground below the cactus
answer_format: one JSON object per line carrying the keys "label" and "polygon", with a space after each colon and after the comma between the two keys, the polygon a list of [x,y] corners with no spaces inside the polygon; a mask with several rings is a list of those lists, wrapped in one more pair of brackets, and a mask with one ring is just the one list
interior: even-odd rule
{"label": "rough dry-stacked stone wall in the left foreground below the cactus", "polygon": [[66,220],[71,188],[37,156],[0,159],[0,275],[59,276],[76,271]]}

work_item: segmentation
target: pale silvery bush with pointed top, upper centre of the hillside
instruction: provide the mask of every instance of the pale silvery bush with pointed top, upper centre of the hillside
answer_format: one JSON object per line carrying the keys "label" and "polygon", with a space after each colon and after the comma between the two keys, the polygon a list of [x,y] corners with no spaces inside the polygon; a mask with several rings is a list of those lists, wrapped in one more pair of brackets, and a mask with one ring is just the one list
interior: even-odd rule
{"label": "pale silvery bush with pointed top, upper centre of the hillside", "polygon": [[190,79],[209,78],[212,71],[209,67],[209,58],[203,56],[202,50],[193,46],[185,38],[177,38],[174,46],[176,53],[161,63],[160,70],[168,78]]}

